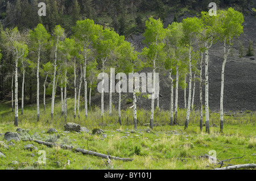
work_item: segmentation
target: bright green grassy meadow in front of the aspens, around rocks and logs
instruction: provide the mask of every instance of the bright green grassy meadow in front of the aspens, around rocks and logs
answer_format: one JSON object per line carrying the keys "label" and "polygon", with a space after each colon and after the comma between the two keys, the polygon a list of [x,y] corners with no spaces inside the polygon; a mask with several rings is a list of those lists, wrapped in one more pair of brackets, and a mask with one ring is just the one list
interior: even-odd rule
{"label": "bright green grassy meadow in front of the aspens, around rocks and logs", "polygon": [[[203,132],[199,128],[199,112],[193,111],[189,121],[187,131],[183,126],[170,126],[169,111],[156,111],[155,122],[159,125],[154,127],[150,133],[146,132],[149,123],[150,112],[138,110],[138,129],[136,133],[129,133],[133,129],[133,110],[122,110],[122,125],[118,124],[118,112],[113,110],[113,116],[108,116],[105,112],[104,120],[101,120],[100,108],[93,108],[89,111],[88,117],[84,117],[81,110],[80,119],[73,118],[73,99],[68,99],[68,122],[80,124],[92,129],[97,127],[103,129],[107,134],[106,138],[101,135],[90,133],[69,133],[64,134],[64,116],[60,113],[60,102],[57,99],[55,104],[54,119],[50,118],[50,104],[47,104],[46,112],[40,107],[40,121],[36,122],[36,106],[27,105],[24,108],[24,115],[19,115],[18,128],[29,129],[28,133],[22,133],[22,140],[13,141],[15,146],[5,148],[0,144],[0,151],[6,157],[0,157],[0,169],[214,169],[215,166],[209,163],[207,158],[201,158],[204,154],[209,154],[210,150],[216,151],[216,157],[220,160],[232,159],[232,165],[243,163],[255,163],[256,139],[255,139],[255,112],[247,111],[241,115],[224,117],[224,133],[220,133],[219,128],[210,127],[210,134]],[[0,104],[0,133],[7,131],[15,132],[14,112],[11,112],[7,103]],[[83,105],[81,105],[83,107]],[[20,112],[19,112],[20,113]],[[178,120],[184,124],[185,111],[179,110]],[[218,113],[210,113],[210,125],[219,125]],[[47,134],[49,128],[56,128],[58,133]],[[121,129],[121,132],[115,131]],[[131,162],[112,160],[112,166],[105,164],[100,157],[75,153],[74,150],[61,149],[59,146],[47,147],[35,142],[26,141],[33,137],[42,141],[55,141],[59,144],[72,145],[75,148],[97,151],[99,153],[110,154],[117,157],[133,158]],[[121,138],[127,136],[127,138]],[[0,141],[9,144],[3,136]],[[24,150],[24,146],[33,144],[38,150]],[[38,161],[39,150],[46,151],[46,165],[34,163]],[[34,155],[33,155],[34,154]],[[67,165],[68,160],[70,164]],[[12,162],[18,161],[17,165]]]}

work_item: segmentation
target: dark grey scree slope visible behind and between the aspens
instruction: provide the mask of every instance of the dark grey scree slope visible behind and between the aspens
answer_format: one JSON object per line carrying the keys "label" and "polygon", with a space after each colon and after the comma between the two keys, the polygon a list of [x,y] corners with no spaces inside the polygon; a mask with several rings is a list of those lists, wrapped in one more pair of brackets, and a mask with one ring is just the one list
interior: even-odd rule
{"label": "dark grey scree slope visible behind and between the aspens", "polygon": [[[181,16],[178,20],[186,18],[188,15]],[[172,22],[173,15],[166,18],[165,26]],[[224,112],[229,111],[256,111],[256,56],[240,58],[239,43],[242,41],[245,51],[249,44],[249,40],[253,41],[254,54],[256,55],[256,18],[253,15],[246,15],[243,23],[243,34],[234,41],[232,56],[229,56],[228,62],[225,66],[225,80],[224,80]],[[144,45],[142,43],[142,34],[136,34],[129,37],[128,41],[134,44],[135,49],[140,51]],[[209,63],[209,108],[211,111],[220,110],[220,91],[221,91],[221,66],[222,66],[222,43],[214,44],[210,49],[210,63]],[[150,69],[143,70],[144,72],[151,72]],[[204,72],[204,70],[203,70]],[[204,76],[204,75],[203,75]],[[164,110],[170,109],[170,80],[164,75],[160,75],[160,108]],[[187,81],[188,82],[188,81]],[[203,87],[204,89],[204,87]],[[204,90],[203,90],[204,95]],[[108,109],[109,97],[106,93],[105,108]],[[187,89],[188,98],[188,89]],[[130,93],[123,93],[122,108],[131,107],[132,99]],[[204,99],[204,96],[203,96]],[[179,89],[179,103],[180,108],[184,108],[184,90]],[[97,93],[92,98],[93,104],[100,107],[101,94]],[[149,99],[139,96],[138,108],[150,109],[151,101]],[[113,94],[113,104],[118,106],[118,94]],[[195,106],[199,106],[199,82],[196,82],[195,91]]]}

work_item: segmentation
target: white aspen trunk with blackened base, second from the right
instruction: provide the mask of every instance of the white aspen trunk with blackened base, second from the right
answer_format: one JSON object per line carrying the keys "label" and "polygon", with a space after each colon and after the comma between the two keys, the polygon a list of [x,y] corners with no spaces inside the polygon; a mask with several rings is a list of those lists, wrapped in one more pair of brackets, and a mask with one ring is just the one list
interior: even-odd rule
{"label": "white aspen trunk with blackened base, second from the right", "polygon": [[205,43],[205,132],[210,133],[209,125],[209,82],[208,82],[208,66],[209,66],[209,54],[208,43]]}

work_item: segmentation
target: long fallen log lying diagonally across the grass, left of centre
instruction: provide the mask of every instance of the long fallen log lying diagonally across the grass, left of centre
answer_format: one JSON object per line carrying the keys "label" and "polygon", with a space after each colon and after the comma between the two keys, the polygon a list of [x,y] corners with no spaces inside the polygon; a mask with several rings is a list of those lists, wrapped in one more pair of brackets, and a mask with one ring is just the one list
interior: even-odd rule
{"label": "long fallen log lying diagonally across the grass, left of centre", "polygon": [[68,146],[68,145],[55,144],[53,142],[46,142],[46,141],[34,140],[34,139],[30,139],[30,141],[34,141],[34,142],[37,142],[38,144],[43,144],[46,146],[60,146],[60,148],[69,149],[69,150],[75,149],[75,151],[81,152],[82,154],[94,155],[96,157],[101,157],[101,158],[106,158],[106,159],[119,159],[122,161],[133,161],[133,158],[114,157],[112,155],[102,154],[102,153],[98,153],[95,151],[89,151],[89,150],[85,150],[85,149],[81,149],[81,148],[74,148],[73,146]]}

